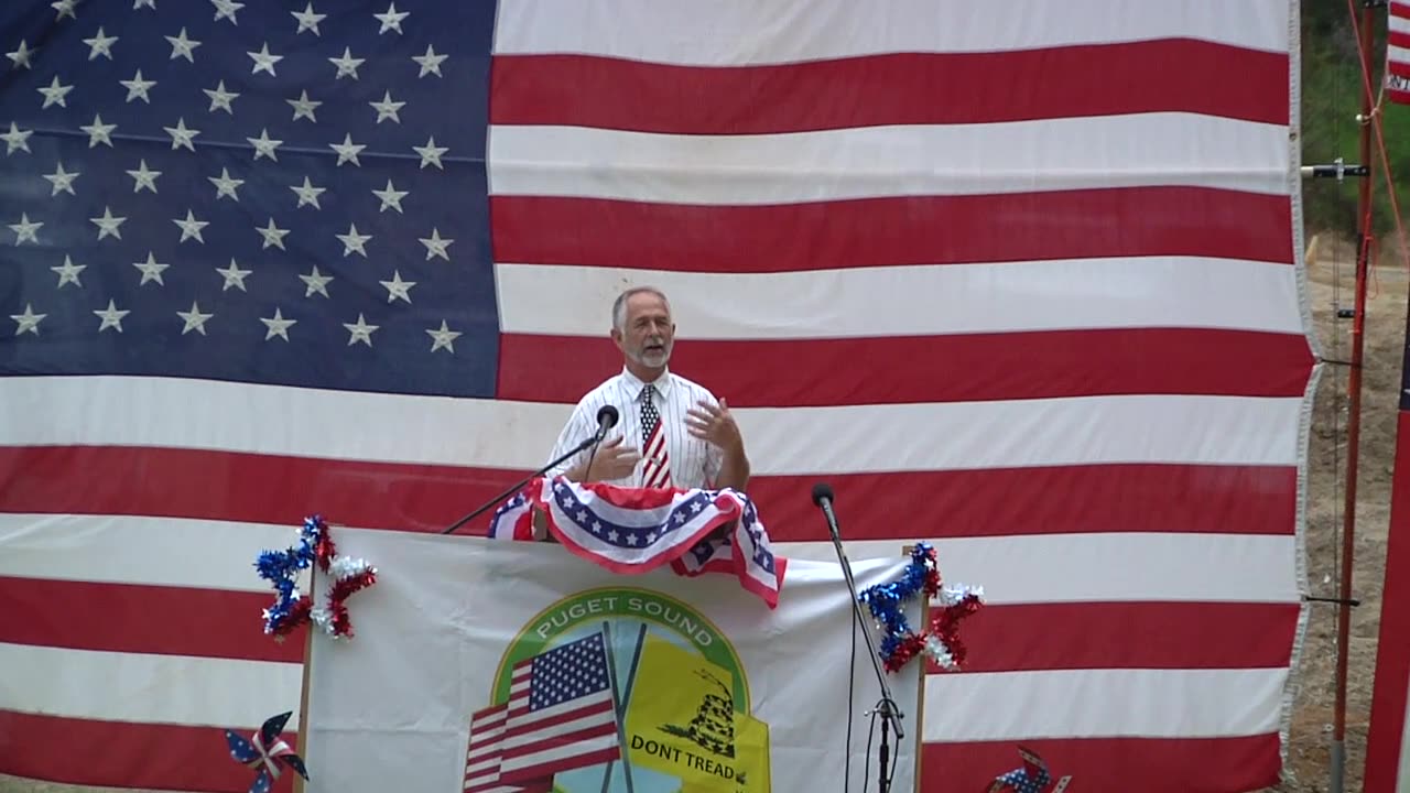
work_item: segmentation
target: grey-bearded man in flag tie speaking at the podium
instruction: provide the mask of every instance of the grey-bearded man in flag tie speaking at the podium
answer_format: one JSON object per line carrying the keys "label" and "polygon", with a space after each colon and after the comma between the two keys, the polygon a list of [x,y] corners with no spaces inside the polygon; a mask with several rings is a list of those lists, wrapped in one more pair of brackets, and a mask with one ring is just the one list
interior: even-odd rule
{"label": "grey-bearded man in flag tie speaking at the podium", "polygon": [[620,420],[594,450],[580,452],[547,476],[620,487],[744,490],[749,457],[729,406],[709,389],[668,370],[675,322],[666,295],[634,286],[612,303],[612,341],[623,367],[574,408],[550,459],[596,432],[596,415],[613,405]]}

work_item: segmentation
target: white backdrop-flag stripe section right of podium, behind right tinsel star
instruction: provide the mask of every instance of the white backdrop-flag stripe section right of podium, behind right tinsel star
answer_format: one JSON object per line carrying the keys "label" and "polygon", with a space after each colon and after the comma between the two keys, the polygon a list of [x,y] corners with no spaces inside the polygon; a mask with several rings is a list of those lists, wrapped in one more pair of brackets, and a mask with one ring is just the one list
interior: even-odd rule
{"label": "white backdrop-flag stripe section right of podium, behind right tinsel star", "polygon": [[[845,497],[845,494],[839,494]],[[846,507],[839,523],[847,536]],[[847,559],[895,559],[908,540],[845,542]],[[946,583],[991,605],[1029,603],[1299,603],[1292,536],[1090,533],[928,539]],[[773,543],[776,556],[836,562],[830,542]],[[787,590],[787,579],[784,583]]]}

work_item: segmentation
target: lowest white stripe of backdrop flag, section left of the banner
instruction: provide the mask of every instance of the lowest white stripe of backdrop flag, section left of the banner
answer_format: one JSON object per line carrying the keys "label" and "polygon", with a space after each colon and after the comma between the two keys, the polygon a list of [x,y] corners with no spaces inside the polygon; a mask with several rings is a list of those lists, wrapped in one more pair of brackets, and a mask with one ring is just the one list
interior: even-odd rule
{"label": "lowest white stripe of backdrop flag, section left of the banner", "polygon": [[0,643],[0,669],[3,710],[251,731],[293,710],[299,724],[298,663]]}

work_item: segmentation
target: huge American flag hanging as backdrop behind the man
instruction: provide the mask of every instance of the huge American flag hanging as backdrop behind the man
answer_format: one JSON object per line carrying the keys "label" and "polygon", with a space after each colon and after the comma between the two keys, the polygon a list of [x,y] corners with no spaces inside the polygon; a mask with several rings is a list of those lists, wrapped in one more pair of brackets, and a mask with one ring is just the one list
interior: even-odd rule
{"label": "huge American flag hanging as backdrop behind the man", "polygon": [[781,553],[832,557],[825,480],[853,559],[986,587],[926,792],[1018,742],[1084,790],[1275,782],[1296,7],[4,3],[0,772],[244,790],[221,728],[296,708],[303,646],[255,553],[544,463],[654,284]]}

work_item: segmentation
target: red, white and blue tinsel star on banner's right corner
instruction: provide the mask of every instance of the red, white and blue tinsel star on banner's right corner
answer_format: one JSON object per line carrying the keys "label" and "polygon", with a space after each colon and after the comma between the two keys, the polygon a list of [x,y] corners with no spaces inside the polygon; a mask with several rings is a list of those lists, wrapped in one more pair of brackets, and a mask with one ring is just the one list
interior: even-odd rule
{"label": "red, white and blue tinsel star on banner's right corner", "polygon": [[[919,594],[939,603],[931,607],[931,624],[916,634],[905,618],[905,604]],[[959,638],[959,622],[984,604],[983,587],[942,584],[935,547],[916,543],[911,563],[901,577],[890,584],[869,587],[857,595],[871,610],[884,635],[881,660],[888,672],[895,672],[924,655],[942,669],[955,670],[964,663],[966,648]]]}

